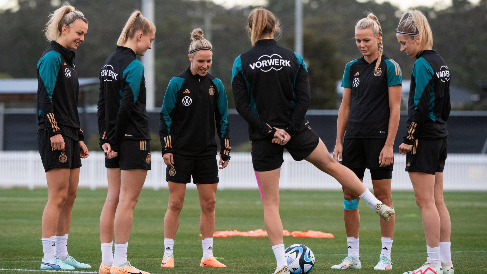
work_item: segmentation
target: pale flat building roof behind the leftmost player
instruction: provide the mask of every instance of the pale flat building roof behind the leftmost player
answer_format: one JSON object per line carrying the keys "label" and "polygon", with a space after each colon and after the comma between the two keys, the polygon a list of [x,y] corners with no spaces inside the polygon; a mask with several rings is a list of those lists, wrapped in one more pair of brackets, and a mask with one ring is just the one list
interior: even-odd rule
{"label": "pale flat building roof behind the leftmost player", "polygon": [[[79,86],[99,83],[98,78],[78,78]],[[0,94],[37,94],[37,78],[0,79]]]}

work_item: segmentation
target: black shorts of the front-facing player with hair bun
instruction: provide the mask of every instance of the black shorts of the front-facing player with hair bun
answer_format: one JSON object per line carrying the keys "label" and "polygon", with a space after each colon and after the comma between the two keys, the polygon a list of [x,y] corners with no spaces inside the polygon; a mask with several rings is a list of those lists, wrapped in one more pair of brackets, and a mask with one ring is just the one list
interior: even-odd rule
{"label": "black shorts of the front-facing player with hair bun", "polygon": [[218,183],[218,163],[216,157],[210,159],[185,159],[172,155],[174,167],[166,167],[166,181],[187,184]]}

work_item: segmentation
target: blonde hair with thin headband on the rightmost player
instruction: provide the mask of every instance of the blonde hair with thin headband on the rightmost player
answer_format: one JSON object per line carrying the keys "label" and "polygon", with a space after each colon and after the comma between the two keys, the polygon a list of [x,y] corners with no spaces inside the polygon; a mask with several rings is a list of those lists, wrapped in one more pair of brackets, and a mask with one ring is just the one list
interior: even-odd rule
{"label": "blonde hair with thin headband on the rightmost player", "polygon": [[[433,48],[433,33],[426,16],[417,9],[410,9],[403,13],[399,19],[397,32],[406,38],[419,35],[419,48],[421,51]],[[420,51],[420,52],[421,52]]]}

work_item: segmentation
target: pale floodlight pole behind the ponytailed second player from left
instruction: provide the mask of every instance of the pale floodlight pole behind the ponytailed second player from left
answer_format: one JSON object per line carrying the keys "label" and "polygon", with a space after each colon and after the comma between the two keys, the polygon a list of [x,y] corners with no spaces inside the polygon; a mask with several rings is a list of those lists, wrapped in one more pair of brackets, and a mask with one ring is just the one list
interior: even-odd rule
{"label": "pale floodlight pole behind the ponytailed second player from left", "polygon": [[[154,0],[142,0],[142,15],[155,24]],[[147,88],[147,109],[155,107],[155,39],[152,41],[152,49],[146,51],[142,57],[144,65],[144,78]]]}

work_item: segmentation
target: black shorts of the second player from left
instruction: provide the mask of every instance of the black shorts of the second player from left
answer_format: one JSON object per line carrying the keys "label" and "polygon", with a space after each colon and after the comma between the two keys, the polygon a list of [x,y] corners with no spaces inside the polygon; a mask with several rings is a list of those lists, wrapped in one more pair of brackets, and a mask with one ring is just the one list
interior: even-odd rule
{"label": "black shorts of the second player from left", "polygon": [[150,140],[122,140],[118,156],[105,158],[105,167],[150,170]]}

